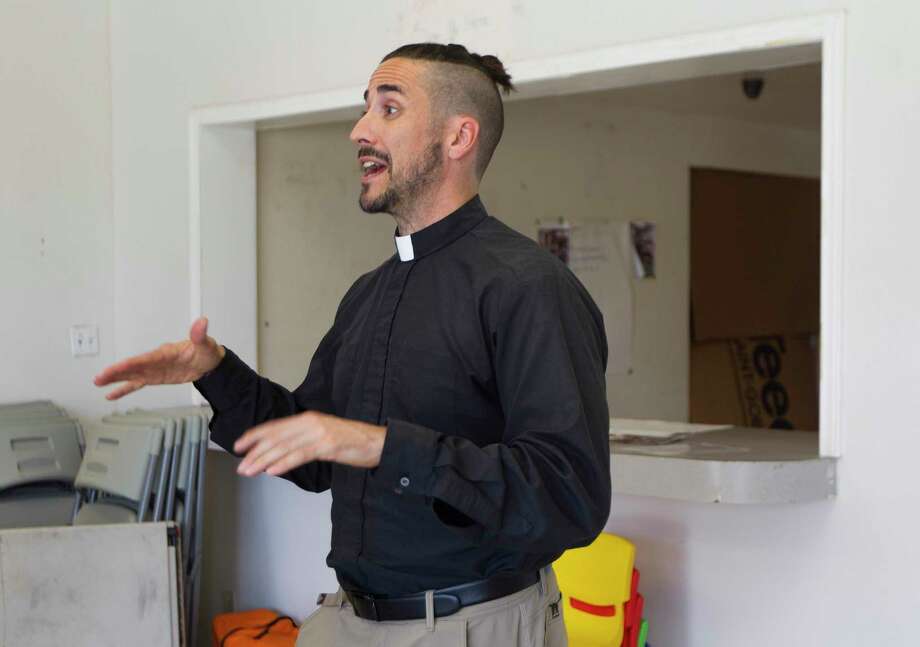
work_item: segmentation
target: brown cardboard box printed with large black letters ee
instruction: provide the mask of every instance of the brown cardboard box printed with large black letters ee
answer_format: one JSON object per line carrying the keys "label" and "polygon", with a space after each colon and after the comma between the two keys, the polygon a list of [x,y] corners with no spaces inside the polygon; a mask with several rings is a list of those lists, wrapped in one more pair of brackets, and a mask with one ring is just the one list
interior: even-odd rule
{"label": "brown cardboard box printed with large black letters ee", "polygon": [[818,429],[816,336],[694,342],[690,422]]}

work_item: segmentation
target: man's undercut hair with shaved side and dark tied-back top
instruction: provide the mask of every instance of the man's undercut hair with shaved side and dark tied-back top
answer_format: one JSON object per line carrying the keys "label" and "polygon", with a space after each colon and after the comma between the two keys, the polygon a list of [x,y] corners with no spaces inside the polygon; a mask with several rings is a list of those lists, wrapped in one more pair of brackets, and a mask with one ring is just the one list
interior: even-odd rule
{"label": "man's undercut hair with shaved side and dark tied-back top", "polygon": [[479,122],[476,176],[481,180],[505,129],[505,111],[499,90],[514,90],[511,76],[497,57],[474,54],[463,45],[414,43],[403,45],[380,61],[408,58],[432,63],[423,76],[434,118],[467,114]]}

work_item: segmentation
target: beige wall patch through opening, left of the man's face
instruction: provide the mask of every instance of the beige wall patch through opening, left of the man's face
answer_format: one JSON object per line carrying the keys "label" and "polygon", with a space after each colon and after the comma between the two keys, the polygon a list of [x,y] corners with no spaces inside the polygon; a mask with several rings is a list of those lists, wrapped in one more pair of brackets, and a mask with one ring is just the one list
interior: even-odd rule
{"label": "beige wall patch through opening, left of the man's face", "polygon": [[393,219],[358,208],[353,125],[257,135],[259,371],[291,389],[345,291],[395,253]]}

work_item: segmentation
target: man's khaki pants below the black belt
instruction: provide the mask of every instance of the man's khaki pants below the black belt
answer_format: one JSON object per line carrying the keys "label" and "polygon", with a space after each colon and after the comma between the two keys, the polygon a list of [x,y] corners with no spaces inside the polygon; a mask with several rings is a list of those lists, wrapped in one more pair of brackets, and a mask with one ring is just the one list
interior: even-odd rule
{"label": "man's khaki pants below the black belt", "polygon": [[303,626],[297,647],[567,647],[556,576],[453,615],[391,622],[357,617],[345,595],[327,595]]}

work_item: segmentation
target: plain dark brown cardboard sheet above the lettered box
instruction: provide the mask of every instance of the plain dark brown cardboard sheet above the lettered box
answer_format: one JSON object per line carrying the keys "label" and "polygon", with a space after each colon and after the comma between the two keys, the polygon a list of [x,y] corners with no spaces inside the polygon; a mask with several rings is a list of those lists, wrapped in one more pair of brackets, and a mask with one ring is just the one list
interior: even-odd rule
{"label": "plain dark brown cardboard sheet above the lettered box", "polygon": [[820,330],[820,182],[691,169],[695,341]]}

